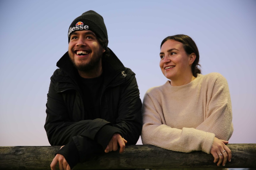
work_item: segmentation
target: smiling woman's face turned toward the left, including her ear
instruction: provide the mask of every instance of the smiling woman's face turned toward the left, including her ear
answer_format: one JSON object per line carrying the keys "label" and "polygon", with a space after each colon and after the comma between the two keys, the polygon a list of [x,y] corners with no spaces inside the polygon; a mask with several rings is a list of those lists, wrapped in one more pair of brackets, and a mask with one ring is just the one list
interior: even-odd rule
{"label": "smiling woman's face turned toward the left, including her ear", "polygon": [[[192,53],[193,54],[193,53]],[[183,44],[167,40],[163,43],[160,51],[160,68],[166,78],[177,81],[191,76],[191,55],[188,55],[183,48]]]}

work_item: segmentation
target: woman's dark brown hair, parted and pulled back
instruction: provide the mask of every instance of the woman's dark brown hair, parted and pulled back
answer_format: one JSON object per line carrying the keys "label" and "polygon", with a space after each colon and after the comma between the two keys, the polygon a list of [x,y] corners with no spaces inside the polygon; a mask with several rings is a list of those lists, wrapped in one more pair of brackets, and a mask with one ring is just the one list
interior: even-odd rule
{"label": "woman's dark brown hair, parted and pulled back", "polygon": [[187,35],[183,35],[183,34],[168,36],[162,41],[160,48],[162,47],[163,43],[165,43],[165,41],[167,41],[167,40],[174,40],[174,41],[181,42],[183,44],[184,50],[186,51],[186,53],[188,55],[191,53],[195,53],[196,58],[191,66],[191,71],[192,71],[193,76],[197,77],[197,74],[201,73],[201,70],[199,68],[197,68],[197,66],[200,66],[199,51],[197,49],[195,42],[192,40],[192,38],[190,38]]}

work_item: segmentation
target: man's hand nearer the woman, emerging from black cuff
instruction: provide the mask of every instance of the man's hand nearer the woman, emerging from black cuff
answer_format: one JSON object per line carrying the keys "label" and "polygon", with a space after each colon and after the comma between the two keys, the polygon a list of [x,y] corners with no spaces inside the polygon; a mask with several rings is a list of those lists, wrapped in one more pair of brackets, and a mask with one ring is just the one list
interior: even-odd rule
{"label": "man's hand nearer the woman, emerging from black cuff", "polygon": [[121,137],[121,135],[119,133],[115,133],[111,140],[108,143],[108,146],[105,149],[105,153],[108,153],[110,151],[116,151],[118,149],[118,145],[120,146],[120,150],[119,153],[124,152],[124,148],[125,148],[125,144],[127,143],[127,140],[125,140],[124,138]]}

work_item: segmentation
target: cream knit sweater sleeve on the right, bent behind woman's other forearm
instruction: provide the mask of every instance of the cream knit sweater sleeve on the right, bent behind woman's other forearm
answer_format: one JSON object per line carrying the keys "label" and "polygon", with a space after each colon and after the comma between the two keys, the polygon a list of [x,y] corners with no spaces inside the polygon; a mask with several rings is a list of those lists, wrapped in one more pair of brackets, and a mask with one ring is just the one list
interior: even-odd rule
{"label": "cream knit sweater sleeve on the right, bent behind woman's other forearm", "polygon": [[196,129],[211,132],[218,139],[229,140],[233,133],[231,99],[227,80],[219,73],[208,83],[205,120]]}

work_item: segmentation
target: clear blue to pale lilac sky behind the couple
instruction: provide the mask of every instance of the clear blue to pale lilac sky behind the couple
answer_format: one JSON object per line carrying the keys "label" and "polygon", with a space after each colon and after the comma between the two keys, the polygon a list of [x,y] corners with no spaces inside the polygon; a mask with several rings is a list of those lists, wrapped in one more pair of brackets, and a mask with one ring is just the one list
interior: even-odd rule
{"label": "clear blue to pale lilac sky behind the couple", "polygon": [[229,84],[229,142],[256,143],[255,0],[1,0],[0,146],[50,145],[44,129],[50,77],[68,49],[69,25],[88,10],[103,16],[108,47],[136,73],[142,100],[167,81],[159,68],[161,41],[192,37],[202,73],[219,72]]}

